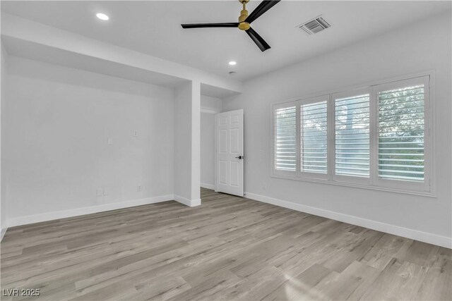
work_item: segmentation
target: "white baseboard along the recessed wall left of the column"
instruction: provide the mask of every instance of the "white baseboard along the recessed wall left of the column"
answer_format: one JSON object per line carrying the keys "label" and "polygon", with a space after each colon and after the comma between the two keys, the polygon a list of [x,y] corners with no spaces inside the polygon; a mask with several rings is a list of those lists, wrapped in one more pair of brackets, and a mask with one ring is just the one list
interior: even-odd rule
{"label": "white baseboard along the recessed wall left of the column", "polygon": [[[28,223],[39,223],[41,221],[52,221],[53,219],[64,219],[66,217],[80,216],[84,214],[93,214],[102,211],[110,211],[115,209],[123,209],[128,207],[140,206],[145,204],[154,204],[158,202],[166,202],[173,200],[173,195],[160,195],[158,197],[146,197],[144,199],[132,199],[124,202],[116,202],[112,204],[102,204],[91,207],[82,207],[76,209],[54,211],[45,214],[35,214],[29,216],[19,216],[8,219],[8,227],[26,225]],[[3,231],[3,229],[2,229]],[[3,236],[2,236],[3,237]]]}

